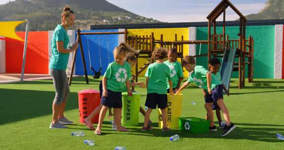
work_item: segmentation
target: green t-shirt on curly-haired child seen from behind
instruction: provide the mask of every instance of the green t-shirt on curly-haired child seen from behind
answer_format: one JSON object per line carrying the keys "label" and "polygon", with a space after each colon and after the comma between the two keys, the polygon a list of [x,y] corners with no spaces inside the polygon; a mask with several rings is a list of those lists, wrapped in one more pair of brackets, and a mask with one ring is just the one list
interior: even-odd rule
{"label": "green t-shirt on curly-haired child seen from behind", "polygon": [[170,68],[166,64],[150,64],[145,73],[149,77],[147,93],[167,94],[167,78],[172,79]]}

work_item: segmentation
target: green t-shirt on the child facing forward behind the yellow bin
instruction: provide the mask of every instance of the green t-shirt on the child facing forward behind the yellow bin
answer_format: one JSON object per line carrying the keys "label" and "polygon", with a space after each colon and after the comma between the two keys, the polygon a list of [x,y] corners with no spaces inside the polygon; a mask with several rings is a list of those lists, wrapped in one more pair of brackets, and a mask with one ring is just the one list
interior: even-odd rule
{"label": "green t-shirt on the child facing forward behind the yellow bin", "polygon": [[[171,71],[171,77],[173,82],[173,88],[178,86],[179,77],[183,77],[182,67],[179,62],[170,63],[169,60],[165,61],[164,64],[168,65]],[[169,81],[167,80],[167,89],[170,89]]]}

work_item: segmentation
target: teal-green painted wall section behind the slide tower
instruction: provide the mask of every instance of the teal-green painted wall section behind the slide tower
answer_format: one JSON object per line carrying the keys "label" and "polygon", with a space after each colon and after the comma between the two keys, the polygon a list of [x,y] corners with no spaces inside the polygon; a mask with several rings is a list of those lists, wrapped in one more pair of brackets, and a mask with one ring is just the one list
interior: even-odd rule
{"label": "teal-green painted wall section behind the slide tower", "polygon": [[[213,31],[213,28],[212,28]],[[226,35],[229,39],[239,39],[239,27],[226,27]],[[223,28],[217,27],[216,33],[222,34]],[[252,36],[254,39],[254,64],[253,76],[255,78],[274,78],[274,44],[275,26],[248,26],[246,29],[246,39]],[[208,28],[197,28],[197,40],[208,39]],[[208,45],[201,46],[201,53],[207,53]],[[196,53],[199,54],[200,45],[196,46]],[[207,67],[207,57],[198,57],[197,65]],[[238,62],[236,59],[235,62]],[[247,65],[246,65],[247,67]],[[246,76],[248,75],[246,71]],[[238,77],[238,72],[233,72],[232,77]]]}

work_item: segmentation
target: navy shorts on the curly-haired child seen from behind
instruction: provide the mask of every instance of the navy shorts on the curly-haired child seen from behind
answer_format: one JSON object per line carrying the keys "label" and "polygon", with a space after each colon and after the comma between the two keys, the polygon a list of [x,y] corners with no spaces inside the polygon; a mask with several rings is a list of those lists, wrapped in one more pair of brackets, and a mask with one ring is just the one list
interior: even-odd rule
{"label": "navy shorts on the curly-haired child seen from behind", "polygon": [[158,105],[159,109],[165,109],[167,108],[167,103],[167,94],[149,93],[147,94],[145,106],[151,109],[156,109]]}

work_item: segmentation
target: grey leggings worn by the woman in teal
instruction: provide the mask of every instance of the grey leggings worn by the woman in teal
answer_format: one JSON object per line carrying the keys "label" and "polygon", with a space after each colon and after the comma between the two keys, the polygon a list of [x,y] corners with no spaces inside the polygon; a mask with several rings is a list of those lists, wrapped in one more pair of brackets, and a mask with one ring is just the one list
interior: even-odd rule
{"label": "grey leggings worn by the woman in teal", "polygon": [[66,103],[67,97],[70,94],[66,71],[49,69],[49,73],[52,76],[55,87],[53,104],[61,105],[61,103]]}

